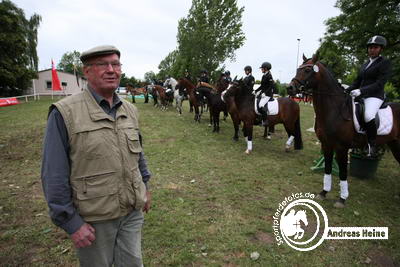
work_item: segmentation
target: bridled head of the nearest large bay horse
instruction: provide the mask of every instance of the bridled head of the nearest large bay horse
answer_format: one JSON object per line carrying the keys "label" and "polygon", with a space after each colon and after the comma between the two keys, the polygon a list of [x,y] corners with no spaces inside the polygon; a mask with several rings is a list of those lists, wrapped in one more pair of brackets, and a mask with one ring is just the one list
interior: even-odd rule
{"label": "bridled head of the nearest large bay horse", "polygon": [[286,88],[288,94],[292,96],[298,93],[312,94],[312,89],[320,78],[320,67],[318,53],[310,59],[303,55],[303,64],[297,69],[296,76]]}

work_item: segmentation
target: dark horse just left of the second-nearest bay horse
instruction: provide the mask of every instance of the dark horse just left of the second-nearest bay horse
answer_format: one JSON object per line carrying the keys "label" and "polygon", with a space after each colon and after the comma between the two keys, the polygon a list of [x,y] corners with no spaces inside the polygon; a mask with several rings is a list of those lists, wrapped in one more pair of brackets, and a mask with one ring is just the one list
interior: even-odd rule
{"label": "dark horse just left of the second-nearest bay horse", "polygon": [[213,125],[213,132],[219,132],[219,114],[224,112],[224,120],[228,116],[228,110],[226,103],[222,100],[221,93],[225,91],[229,86],[229,82],[224,79],[221,75],[217,81],[215,90],[208,87],[200,87],[197,89],[200,97],[203,96],[208,101],[208,106],[210,108],[210,126]]}

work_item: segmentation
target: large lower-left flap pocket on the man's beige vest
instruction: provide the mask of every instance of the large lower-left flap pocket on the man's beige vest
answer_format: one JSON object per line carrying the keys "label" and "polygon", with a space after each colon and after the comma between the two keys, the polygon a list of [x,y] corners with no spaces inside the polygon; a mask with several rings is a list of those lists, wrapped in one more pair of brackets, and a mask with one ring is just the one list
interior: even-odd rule
{"label": "large lower-left flap pocket on the man's beige vest", "polygon": [[115,171],[76,178],[75,205],[88,221],[112,219],[119,213],[118,186]]}

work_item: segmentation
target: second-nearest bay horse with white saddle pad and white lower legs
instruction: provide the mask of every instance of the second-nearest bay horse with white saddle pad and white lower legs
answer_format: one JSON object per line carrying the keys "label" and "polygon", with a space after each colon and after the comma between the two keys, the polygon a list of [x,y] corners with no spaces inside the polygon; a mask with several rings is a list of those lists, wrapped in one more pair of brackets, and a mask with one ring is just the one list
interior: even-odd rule
{"label": "second-nearest bay horse with white saddle pad and white lower legs", "polygon": [[[226,90],[223,96],[224,101],[228,104],[228,111],[232,116],[234,123],[235,135],[237,140],[240,121],[243,122],[243,134],[247,140],[246,154],[250,154],[253,149],[253,125],[255,124],[257,114],[254,110],[255,96],[253,90],[247,87],[242,79],[234,81]],[[268,115],[268,126],[273,127],[275,124],[283,123],[288,140],[286,142],[285,151],[289,151],[294,140],[294,149],[303,148],[303,140],[300,128],[300,107],[299,104],[288,97],[279,97],[277,99],[279,112],[276,115]],[[232,114],[232,113],[234,114]],[[264,137],[267,136],[268,129],[265,127]]]}

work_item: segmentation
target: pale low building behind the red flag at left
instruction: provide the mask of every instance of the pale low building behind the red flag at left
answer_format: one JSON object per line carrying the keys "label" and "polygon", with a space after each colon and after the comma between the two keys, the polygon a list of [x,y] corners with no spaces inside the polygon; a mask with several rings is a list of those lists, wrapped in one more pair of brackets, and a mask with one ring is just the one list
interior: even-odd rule
{"label": "pale low building behind the red flag at left", "polygon": [[[38,72],[38,78],[33,80],[34,88],[31,88],[29,94],[39,95],[73,95],[87,88],[87,80],[85,77],[78,78],[67,72],[57,71],[63,91],[53,91],[51,69]],[[78,84],[79,83],[79,84]]]}

